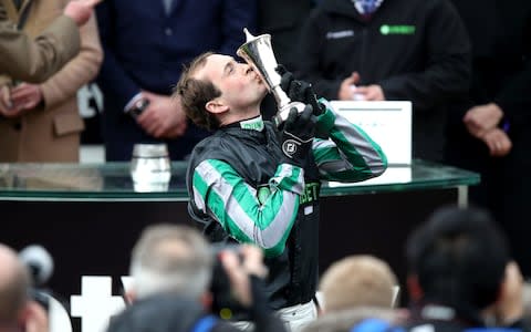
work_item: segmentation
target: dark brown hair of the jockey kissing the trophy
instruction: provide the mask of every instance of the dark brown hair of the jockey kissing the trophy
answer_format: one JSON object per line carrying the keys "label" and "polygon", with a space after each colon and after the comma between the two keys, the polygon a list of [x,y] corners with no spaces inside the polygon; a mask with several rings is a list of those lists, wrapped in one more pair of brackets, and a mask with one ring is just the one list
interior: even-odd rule
{"label": "dark brown hair of the jockey kissing the trophy", "polygon": [[210,81],[194,79],[198,69],[207,63],[207,58],[212,52],[202,53],[185,66],[179,82],[174,90],[174,96],[180,98],[186,115],[199,127],[212,131],[219,127],[218,118],[207,111],[206,105],[211,100],[221,95],[216,85]]}

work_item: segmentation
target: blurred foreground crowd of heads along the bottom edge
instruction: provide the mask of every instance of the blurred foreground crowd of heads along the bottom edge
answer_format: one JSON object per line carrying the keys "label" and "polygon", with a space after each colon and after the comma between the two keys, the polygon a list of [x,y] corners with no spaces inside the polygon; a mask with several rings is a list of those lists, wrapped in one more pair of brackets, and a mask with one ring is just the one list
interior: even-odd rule
{"label": "blurred foreground crowd of heads along the bottom edge", "polygon": [[[529,286],[504,234],[486,210],[438,208],[410,234],[404,256],[406,284],[375,256],[351,255],[332,263],[319,284],[317,318],[290,330],[268,305],[264,284],[270,271],[262,250],[212,246],[189,226],[156,224],[147,226],[132,248],[127,305],[105,329],[530,331]],[[42,301],[45,292],[35,287],[25,257],[0,245],[0,331],[54,332]],[[407,292],[405,304],[400,291]],[[239,313],[247,314],[250,330],[241,328]]]}

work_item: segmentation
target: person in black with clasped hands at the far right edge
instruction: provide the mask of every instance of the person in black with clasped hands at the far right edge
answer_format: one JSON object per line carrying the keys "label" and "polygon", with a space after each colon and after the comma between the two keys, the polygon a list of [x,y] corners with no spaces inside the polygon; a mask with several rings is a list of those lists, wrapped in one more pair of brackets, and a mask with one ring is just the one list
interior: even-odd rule
{"label": "person in black with clasped hands at the far right edge", "polygon": [[481,174],[481,183],[470,187],[470,201],[492,211],[530,277],[531,226],[522,216],[531,200],[531,178],[524,174],[531,168],[531,2],[455,4],[472,41],[472,85],[450,113],[446,159]]}

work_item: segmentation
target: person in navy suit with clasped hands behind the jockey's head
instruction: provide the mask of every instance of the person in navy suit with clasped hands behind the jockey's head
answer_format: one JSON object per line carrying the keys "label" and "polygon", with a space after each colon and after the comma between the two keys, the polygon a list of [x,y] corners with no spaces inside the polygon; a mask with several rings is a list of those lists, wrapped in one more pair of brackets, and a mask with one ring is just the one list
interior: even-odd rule
{"label": "person in navy suit with clasped hands behind the jockey's head", "polygon": [[128,160],[135,143],[157,142],[184,159],[206,132],[188,123],[171,89],[184,63],[207,50],[232,54],[244,42],[256,0],[107,0],[96,11],[106,160]]}

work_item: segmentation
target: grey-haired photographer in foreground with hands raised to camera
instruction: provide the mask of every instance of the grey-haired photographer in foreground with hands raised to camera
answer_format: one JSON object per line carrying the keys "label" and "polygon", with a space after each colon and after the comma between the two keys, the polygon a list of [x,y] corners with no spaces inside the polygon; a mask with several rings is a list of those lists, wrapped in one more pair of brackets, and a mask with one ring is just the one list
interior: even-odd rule
{"label": "grey-haired photographer in foreground with hands raised to camera", "polygon": [[[261,295],[267,274],[261,250],[241,246],[239,252],[222,250],[218,257],[256,331],[284,331]],[[127,293],[133,304],[112,319],[107,332],[239,331],[210,312],[212,267],[211,248],[197,230],[176,225],[146,228],[133,249],[133,290]]]}

